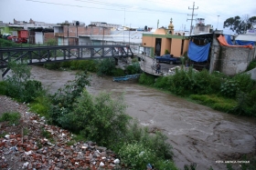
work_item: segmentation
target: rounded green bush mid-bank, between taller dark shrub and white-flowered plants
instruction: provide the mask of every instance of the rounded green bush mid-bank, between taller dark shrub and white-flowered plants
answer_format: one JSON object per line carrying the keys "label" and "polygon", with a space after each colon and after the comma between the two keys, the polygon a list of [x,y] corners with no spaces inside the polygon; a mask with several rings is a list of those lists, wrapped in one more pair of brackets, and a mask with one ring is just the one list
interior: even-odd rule
{"label": "rounded green bush mid-bank, between taller dark shrub and white-flowered plants", "polygon": [[[93,98],[93,103],[88,100],[91,100],[91,96],[84,91],[72,114],[72,116],[77,115],[78,118],[73,120],[74,124],[78,122],[82,124],[81,134],[86,138],[100,145],[112,147],[126,133],[131,119],[125,114],[126,105],[123,96],[113,100],[111,94],[102,92]],[[85,103],[90,103],[91,106]]]}

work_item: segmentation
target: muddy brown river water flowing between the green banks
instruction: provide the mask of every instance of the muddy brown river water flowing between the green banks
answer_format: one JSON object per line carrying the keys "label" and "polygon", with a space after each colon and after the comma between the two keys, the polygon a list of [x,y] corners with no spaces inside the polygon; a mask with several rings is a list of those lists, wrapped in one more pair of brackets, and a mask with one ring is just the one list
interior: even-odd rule
{"label": "muddy brown river water flowing between the green banks", "polygon": [[[75,77],[72,71],[52,71],[37,66],[32,67],[31,73],[50,93]],[[124,92],[127,114],[137,118],[141,125],[160,129],[167,135],[180,169],[191,163],[197,164],[197,170],[207,170],[210,166],[214,170],[226,169],[225,161],[237,161],[243,154],[256,154],[255,118],[221,113],[134,81],[117,83],[112,77],[95,74],[87,89],[91,95],[103,90],[112,95]]]}

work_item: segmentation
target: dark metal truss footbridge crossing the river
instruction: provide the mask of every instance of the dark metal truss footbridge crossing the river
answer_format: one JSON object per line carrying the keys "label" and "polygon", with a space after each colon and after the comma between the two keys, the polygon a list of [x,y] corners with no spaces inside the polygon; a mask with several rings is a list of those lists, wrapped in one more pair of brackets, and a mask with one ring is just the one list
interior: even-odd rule
{"label": "dark metal truss footbridge crossing the river", "polygon": [[133,56],[130,45],[56,45],[37,47],[0,48],[0,69],[9,71],[9,62],[27,65],[42,65],[69,60],[88,60],[106,57],[122,58]]}

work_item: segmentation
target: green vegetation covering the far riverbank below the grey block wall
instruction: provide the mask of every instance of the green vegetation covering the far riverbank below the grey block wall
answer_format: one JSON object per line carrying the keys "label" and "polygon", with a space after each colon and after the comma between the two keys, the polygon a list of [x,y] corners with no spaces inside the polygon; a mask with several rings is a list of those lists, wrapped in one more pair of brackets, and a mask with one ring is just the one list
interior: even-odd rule
{"label": "green vegetation covering the far riverbank below the grey block wall", "polygon": [[199,104],[235,115],[256,116],[256,83],[251,75],[227,76],[207,70],[176,69],[175,75],[155,77],[143,74],[139,83],[188,97]]}

